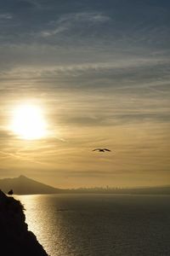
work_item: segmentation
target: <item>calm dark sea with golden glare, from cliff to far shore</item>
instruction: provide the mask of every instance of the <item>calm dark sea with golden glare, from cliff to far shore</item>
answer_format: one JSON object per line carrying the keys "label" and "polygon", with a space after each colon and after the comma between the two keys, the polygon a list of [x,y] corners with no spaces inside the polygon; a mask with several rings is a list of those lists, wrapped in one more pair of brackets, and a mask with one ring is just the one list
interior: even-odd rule
{"label": "calm dark sea with golden glare, from cliff to far shore", "polygon": [[22,195],[51,256],[170,255],[170,196]]}

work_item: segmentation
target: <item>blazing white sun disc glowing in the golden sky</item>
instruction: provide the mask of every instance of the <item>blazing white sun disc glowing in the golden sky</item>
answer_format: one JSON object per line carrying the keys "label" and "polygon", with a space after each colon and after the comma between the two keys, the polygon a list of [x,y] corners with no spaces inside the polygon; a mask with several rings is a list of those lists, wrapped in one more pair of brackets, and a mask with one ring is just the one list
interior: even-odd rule
{"label": "blazing white sun disc glowing in the golden sky", "polygon": [[36,140],[45,137],[47,125],[42,109],[34,105],[20,105],[14,109],[11,130],[22,139]]}

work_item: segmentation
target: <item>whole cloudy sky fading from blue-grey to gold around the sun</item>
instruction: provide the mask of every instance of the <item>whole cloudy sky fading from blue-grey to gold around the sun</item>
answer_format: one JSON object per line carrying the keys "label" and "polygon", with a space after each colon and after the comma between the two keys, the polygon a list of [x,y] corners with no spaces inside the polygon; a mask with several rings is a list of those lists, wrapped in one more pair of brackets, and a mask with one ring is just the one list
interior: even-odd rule
{"label": "whole cloudy sky fading from blue-grey to gold around the sun", "polygon": [[[0,178],[169,184],[169,45],[166,0],[1,0]],[[47,136],[14,134],[27,103],[42,109]]]}

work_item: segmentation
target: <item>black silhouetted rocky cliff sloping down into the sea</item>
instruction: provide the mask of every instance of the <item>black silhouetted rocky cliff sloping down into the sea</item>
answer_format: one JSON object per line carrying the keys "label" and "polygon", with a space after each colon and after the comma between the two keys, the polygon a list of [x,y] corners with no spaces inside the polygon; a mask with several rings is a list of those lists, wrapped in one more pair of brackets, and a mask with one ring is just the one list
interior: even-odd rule
{"label": "black silhouetted rocky cliff sloping down into the sea", "polygon": [[48,256],[36,236],[27,229],[20,201],[0,190],[0,253],[3,256]]}

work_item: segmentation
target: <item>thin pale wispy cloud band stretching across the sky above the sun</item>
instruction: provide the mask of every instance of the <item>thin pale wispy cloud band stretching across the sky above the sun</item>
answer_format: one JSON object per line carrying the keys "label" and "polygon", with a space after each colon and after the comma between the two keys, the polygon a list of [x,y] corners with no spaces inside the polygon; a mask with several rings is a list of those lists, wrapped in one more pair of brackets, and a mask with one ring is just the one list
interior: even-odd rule
{"label": "thin pale wispy cloud band stretching across the sky above the sun", "polygon": [[[45,61],[45,60],[44,60]],[[138,73],[138,69],[142,71],[143,69],[146,71],[148,68],[153,69],[153,67],[156,67],[156,69],[161,73],[167,73],[167,67],[169,67],[169,60],[165,56],[160,57],[151,57],[148,56],[147,58],[142,56],[134,56],[128,59],[128,55],[124,59],[120,56],[120,58],[116,57],[115,61],[104,61],[104,62],[86,62],[84,63],[82,61],[74,64],[72,63],[64,65],[59,65],[59,61],[57,63],[58,65],[55,65],[54,63],[51,63],[49,67],[47,67],[47,62],[41,63],[39,62],[38,65],[35,65],[35,67],[31,67],[32,65],[24,65],[26,67],[20,67],[20,65],[14,65],[16,67],[10,68],[9,70],[1,73],[2,79],[3,75],[14,75],[15,78],[25,78],[32,77],[32,78],[38,78],[42,77],[45,78],[48,77],[54,77],[54,75],[64,74],[64,75],[72,75],[72,76],[78,76],[82,75],[82,73],[88,73],[88,72],[94,72],[94,73],[102,73],[102,72],[108,72],[108,71],[115,71],[119,72],[136,72]],[[19,67],[17,67],[19,66]],[[164,70],[163,70],[164,69]],[[107,73],[108,74],[108,73]]]}

